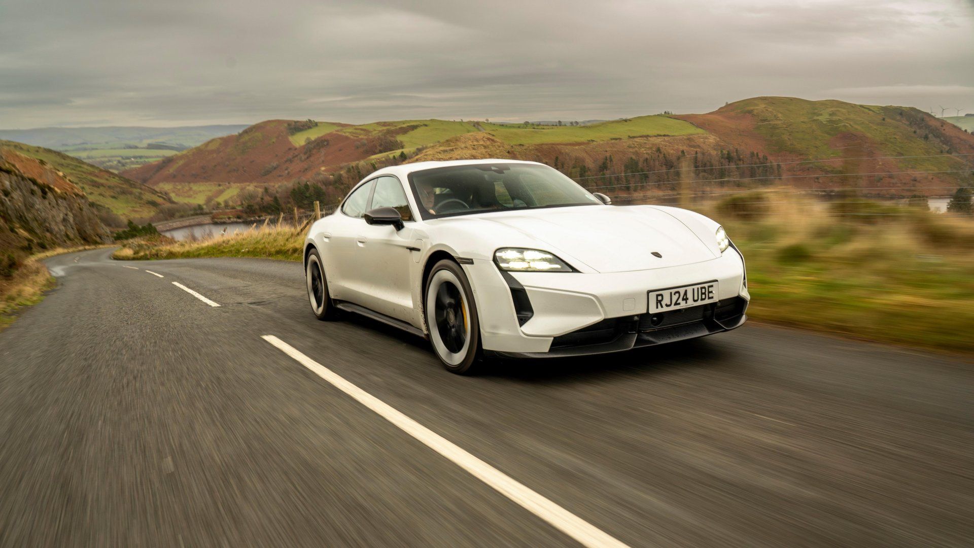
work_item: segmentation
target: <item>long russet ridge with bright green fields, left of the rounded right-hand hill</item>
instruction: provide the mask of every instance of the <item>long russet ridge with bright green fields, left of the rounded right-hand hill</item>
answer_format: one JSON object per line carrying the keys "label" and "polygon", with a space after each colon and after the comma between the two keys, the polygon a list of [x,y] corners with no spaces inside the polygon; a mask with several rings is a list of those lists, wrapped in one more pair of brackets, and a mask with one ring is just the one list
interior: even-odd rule
{"label": "long russet ridge with bright green fields, left of the rounded right-hand hill", "polygon": [[484,134],[510,146],[585,144],[636,136],[703,134],[665,116],[642,116],[578,127],[517,126],[486,122],[400,120],[353,126],[332,122],[270,120],[236,136],[212,139],[159,162],[123,172],[150,185],[170,182],[277,184],[309,178],[355,162],[406,157],[451,137]]}

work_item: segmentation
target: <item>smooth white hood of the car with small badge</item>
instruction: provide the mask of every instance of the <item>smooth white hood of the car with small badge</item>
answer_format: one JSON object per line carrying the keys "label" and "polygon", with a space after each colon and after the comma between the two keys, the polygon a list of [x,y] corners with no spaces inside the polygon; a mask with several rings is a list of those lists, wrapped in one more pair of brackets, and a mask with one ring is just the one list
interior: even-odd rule
{"label": "smooth white hood of the car with small badge", "polygon": [[529,236],[543,251],[570,263],[581,261],[598,272],[646,270],[719,256],[683,222],[652,207],[552,208],[480,218]]}

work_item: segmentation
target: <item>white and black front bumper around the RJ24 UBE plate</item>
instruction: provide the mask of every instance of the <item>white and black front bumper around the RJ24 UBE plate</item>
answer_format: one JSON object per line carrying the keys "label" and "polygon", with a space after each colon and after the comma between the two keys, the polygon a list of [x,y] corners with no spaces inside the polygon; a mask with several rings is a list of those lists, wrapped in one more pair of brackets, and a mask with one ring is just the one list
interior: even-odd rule
{"label": "white and black front bumper around the RJ24 UBE plate", "polygon": [[[711,260],[632,272],[503,275],[489,260],[474,260],[464,268],[474,292],[483,349],[507,357],[619,352],[730,331],[746,321],[750,300],[743,260],[734,248]],[[533,309],[526,322],[522,314],[523,325],[511,296],[510,278],[523,287]],[[648,292],[708,280],[719,282],[719,303],[704,305],[710,309],[699,310],[697,320],[640,327]]]}

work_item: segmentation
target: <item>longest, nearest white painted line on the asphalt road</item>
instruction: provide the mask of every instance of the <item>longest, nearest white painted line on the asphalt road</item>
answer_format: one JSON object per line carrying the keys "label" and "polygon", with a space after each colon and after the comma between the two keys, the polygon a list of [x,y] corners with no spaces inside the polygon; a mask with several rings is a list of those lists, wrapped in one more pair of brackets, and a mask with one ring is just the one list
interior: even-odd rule
{"label": "longest, nearest white painted line on the asphalt road", "polygon": [[355,398],[359,404],[372,411],[375,411],[380,416],[399,427],[403,432],[409,434],[413,438],[416,438],[420,442],[423,442],[423,444],[425,444],[431,450],[434,450],[450,459],[454,464],[460,466],[464,470],[467,470],[481,482],[487,484],[493,489],[496,489],[501,494],[504,494],[507,498],[513,500],[517,504],[520,504],[525,509],[529,510],[531,513],[535,514],[555,528],[560,529],[565,534],[579,541],[583,546],[616,548],[626,547],[625,544],[610,536],[602,529],[596,528],[595,526],[582,520],[580,517],[572,514],[568,510],[565,510],[561,506],[558,506],[554,502],[551,502],[541,494],[528,489],[523,484],[510,478],[504,472],[501,472],[497,468],[494,468],[490,464],[487,464],[483,460],[480,460],[479,458],[468,453],[466,450],[456,446],[439,434],[436,434],[426,426],[423,426],[419,422],[416,422],[401,412],[394,410],[392,407],[375,396],[372,396],[361,388],[358,388],[355,384],[345,380],[335,372],[331,372],[324,366],[318,364],[318,362],[312,360],[308,356],[305,356],[293,346],[282,341],[280,338],[274,336],[273,334],[265,334],[262,335],[261,338],[277,346],[284,354],[294,358],[302,366],[308,368],[312,372],[315,372],[321,378],[335,385],[335,387],[342,392],[345,392],[349,396]]}

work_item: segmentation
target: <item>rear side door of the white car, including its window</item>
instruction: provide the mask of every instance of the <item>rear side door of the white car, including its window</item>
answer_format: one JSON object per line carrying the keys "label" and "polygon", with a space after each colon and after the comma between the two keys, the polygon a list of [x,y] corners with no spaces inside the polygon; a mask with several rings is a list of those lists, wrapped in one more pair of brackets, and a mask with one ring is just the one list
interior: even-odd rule
{"label": "rear side door of the white car, including its window", "polygon": [[331,231],[324,235],[322,258],[328,291],[332,298],[348,300],[367,306],[362,302],[365,281],[361,264],[362,244],[358,242],[367,226],[363,215],[368,210],[369,200],[375,179],[360,185],[345,199],[331,224]]}

